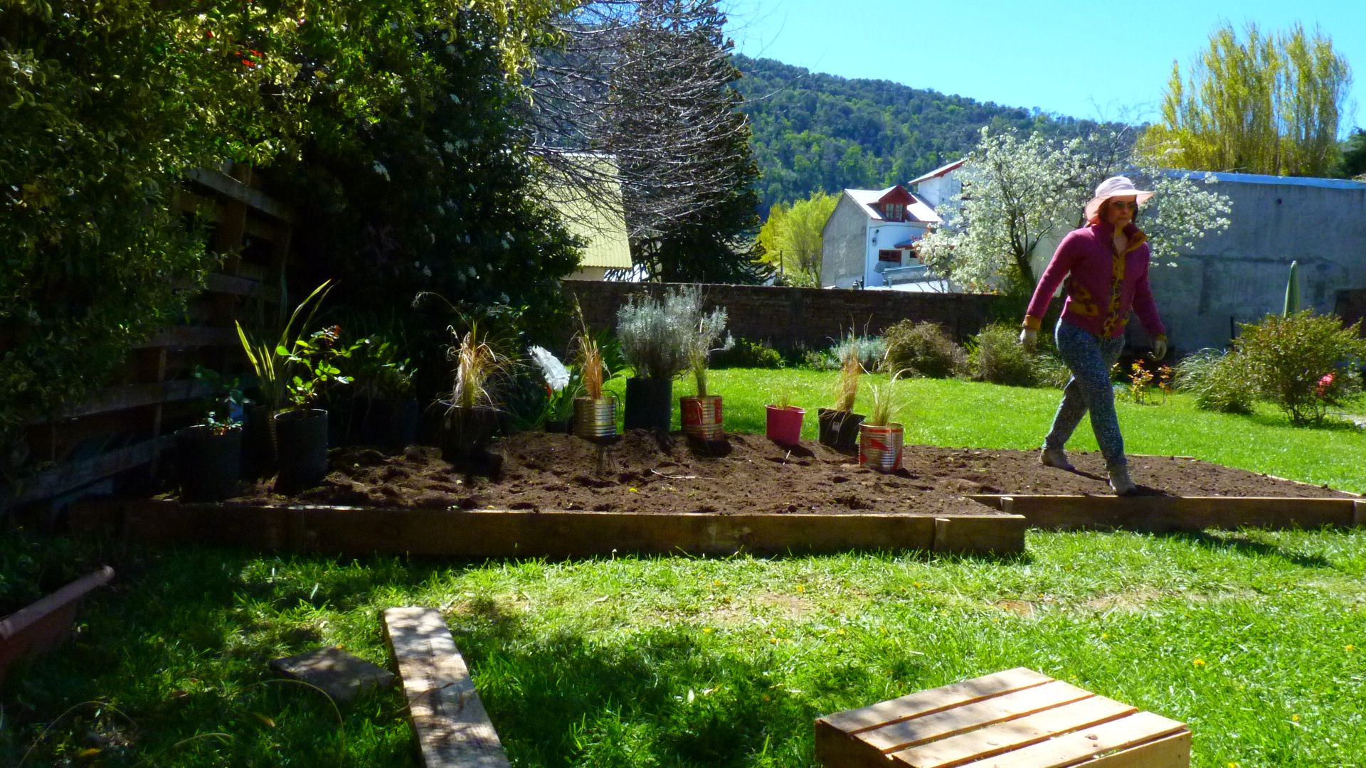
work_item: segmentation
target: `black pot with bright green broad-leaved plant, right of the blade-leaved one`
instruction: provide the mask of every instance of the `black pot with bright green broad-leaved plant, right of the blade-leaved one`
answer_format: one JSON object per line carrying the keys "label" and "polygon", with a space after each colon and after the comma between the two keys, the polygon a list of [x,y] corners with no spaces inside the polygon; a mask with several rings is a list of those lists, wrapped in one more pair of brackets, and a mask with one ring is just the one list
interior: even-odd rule
{"label": "black pot with bright green broad-leaved plant, right of the blade-leaved one", "polygon": [[350,358],[363,342],[342,343],[342,327],[314,331],[295,339],[285,358],[292,376],[285,384],[290,407],[275,414],[275,443],[279,473],[275,485],[295,493],[317,485],[328,474],[328,410],[318,407],[324,391],[333,384],[350,384],[337,364]]}

